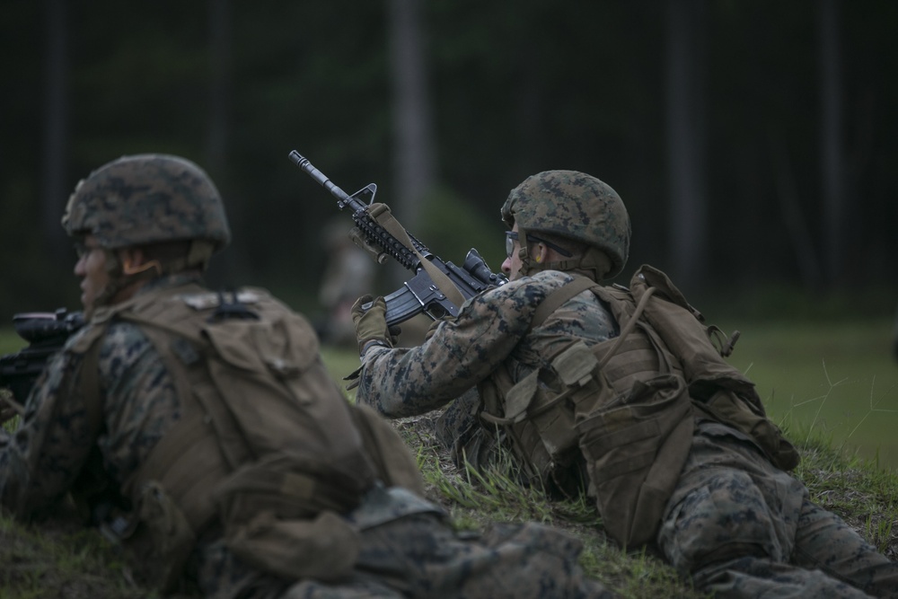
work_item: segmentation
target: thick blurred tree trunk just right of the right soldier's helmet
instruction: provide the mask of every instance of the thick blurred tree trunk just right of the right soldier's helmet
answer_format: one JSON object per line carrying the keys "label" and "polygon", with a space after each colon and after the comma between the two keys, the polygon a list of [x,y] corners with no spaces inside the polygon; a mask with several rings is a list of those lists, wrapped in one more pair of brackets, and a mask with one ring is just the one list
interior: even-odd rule
{"label": "thick blurred tree trunk just right of the right soldier's helmet", "polygon": [[684,287],[706,275],[704,0],[671,0],[667,21],[667,154],[671,274]]}

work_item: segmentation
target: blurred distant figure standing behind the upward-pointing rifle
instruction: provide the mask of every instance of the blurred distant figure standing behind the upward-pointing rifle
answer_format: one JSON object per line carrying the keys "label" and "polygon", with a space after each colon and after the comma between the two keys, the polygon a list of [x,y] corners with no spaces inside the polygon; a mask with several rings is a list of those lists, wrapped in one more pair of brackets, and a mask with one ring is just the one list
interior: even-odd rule
{"label": "blurred distant figure standing behind the upward-pointing rifle", "polygon": [[374,288],[374,260],[349,239],[342,220],[327,226],[323,238],[328,260],[321,278],[318,301],[327,315],[321,326],[321,341],[352,346],[356,343],[352,304],[359,295],[371,293]]}

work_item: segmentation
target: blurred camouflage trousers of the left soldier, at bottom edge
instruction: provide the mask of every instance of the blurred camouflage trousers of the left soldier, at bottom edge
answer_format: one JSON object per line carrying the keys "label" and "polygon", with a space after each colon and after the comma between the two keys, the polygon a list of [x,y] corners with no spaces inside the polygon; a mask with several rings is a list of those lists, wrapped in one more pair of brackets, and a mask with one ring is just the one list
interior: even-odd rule
{"label": "blurred camouflage trousers of the left soldier, at bottom edge", "polygon": [[365,530],[353,577],[256,588],[252,599],[586,599],[612,598],[577,565],[580,543],[541,524],[455,533],[418,514]]}

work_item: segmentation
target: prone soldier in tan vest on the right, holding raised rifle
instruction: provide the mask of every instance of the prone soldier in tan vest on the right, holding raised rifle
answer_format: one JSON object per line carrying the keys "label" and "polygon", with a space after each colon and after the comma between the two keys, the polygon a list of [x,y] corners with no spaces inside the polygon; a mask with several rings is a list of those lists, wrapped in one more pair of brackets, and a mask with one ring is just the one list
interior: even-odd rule
{"label": "prone soldier in tan vest on the right, holding raised rifle", "polygon": [[600,284],[629,254],[614,189],[541,172],[501,213],[509,282],[423,345],[392,348],[383,298],[358,300],[357,401],[398,418],[458,398],[438,430],[460,464],[505,448],[533,484],[585,491],[621,545],[656,546],[715,596],[898,596],[898,564],[788,474],[797,451],[723,359],[732,341],[657,269]]}

